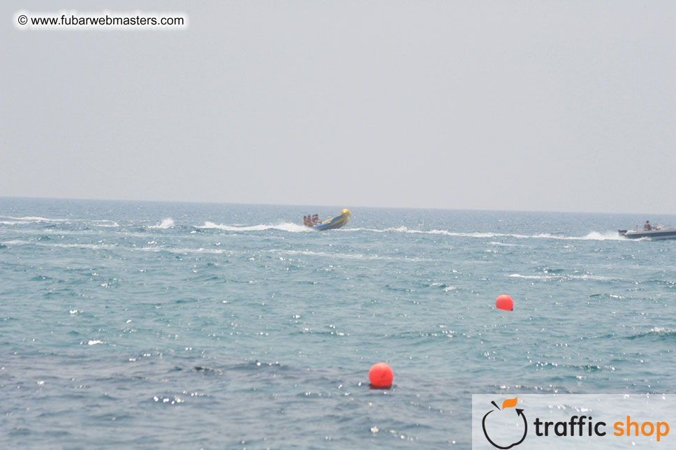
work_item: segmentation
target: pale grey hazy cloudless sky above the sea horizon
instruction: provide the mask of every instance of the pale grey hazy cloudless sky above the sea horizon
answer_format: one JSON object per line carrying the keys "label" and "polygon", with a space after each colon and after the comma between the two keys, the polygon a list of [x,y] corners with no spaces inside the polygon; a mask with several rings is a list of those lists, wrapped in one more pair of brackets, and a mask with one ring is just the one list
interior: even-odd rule
{"label": "pale grey hazy cloudless sky above the sea horizon", "polygon": [[[676,214],[673,1],[5,1],[0,196]],[[180,11],[186,31],[20,31]]]}

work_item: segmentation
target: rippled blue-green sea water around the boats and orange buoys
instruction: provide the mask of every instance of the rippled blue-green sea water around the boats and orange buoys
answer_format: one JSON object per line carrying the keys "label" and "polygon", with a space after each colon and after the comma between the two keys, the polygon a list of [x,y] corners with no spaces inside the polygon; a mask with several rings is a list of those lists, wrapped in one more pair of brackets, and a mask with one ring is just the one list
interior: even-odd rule
{"label": "rippled blue-green sea water around the boats and orange buoys", "polygon": [[300,225],[341,208],[0,198],[0,448],[468,449],[472,393],[676,392],[676,241],[617,237],[675,216]]}

